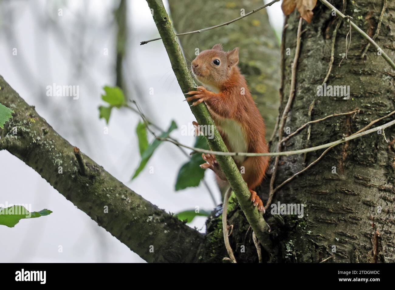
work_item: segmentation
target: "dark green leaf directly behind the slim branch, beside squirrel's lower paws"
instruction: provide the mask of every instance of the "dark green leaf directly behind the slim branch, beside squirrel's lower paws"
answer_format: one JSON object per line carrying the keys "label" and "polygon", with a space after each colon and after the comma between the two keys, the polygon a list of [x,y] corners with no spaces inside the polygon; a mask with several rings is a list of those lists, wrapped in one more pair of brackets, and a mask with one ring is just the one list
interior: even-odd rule
{"label": "dark green leaf directly behind the slim branch, beside squirrel's lower paws", "polygon": [[[196,137],[195,146],[201,149],[209,149],[206,138],[204,136]],[[187,187],[196,187],[204,178],[206,170],[200,168],[199,165],[203,164],[204,160],[201,158],[200,153],[194,153],[191,159],[182,165],[178,172],[177,181],[175,183],[175,190],[186,189]]]}

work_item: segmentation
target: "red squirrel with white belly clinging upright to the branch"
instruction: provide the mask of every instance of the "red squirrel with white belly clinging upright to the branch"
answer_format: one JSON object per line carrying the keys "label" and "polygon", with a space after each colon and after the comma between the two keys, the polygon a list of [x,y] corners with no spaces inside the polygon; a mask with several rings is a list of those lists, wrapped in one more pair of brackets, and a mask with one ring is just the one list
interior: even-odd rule
{"label": "red squirrel with white belly clinging upright to the branch", "polygon": [[[239,48],[226,52],[221,44],[202,51],[192,61],[192,73],[204,86],[188,92],[187,101],[193,106],[205,102],[229,152],[269,152],[265,140],[265,123],[251,97],[240,69]],[[194,125],[198,125],[194,122]],[[215,156],[202,154],[207,163],[201,168],[212,169],[218,178],[226,180]],[[269,165],[269,156],[233,156],[251,193],[251,201],[264,211],[263,203],[254,191],[260,185]]]}

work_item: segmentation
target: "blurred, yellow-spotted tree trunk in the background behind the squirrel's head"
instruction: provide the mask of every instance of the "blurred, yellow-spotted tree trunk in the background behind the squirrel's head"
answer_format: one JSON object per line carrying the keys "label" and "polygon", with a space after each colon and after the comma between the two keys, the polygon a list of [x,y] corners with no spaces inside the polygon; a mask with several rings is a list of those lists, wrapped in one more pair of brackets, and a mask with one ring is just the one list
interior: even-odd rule
{"label": "blurred, yellow-spotted tree trunk in the background behind the squirrel's head", "polygon": [[[261,0],[169,0],[171,18],[178,33],[214,26],[241,16],[263,5]],[[275,5],[279,5],[276,3]],[[239,67],[248,80],[248,88],[265,119],[266,136],[276,123],[280,87],[280,51],[278,39],[269,24],[264,8],[244,19],[202,33],[180,36],[188,65],[196,57],[196,49],[211,49],[222,43],[224,49],[240,48]]]}

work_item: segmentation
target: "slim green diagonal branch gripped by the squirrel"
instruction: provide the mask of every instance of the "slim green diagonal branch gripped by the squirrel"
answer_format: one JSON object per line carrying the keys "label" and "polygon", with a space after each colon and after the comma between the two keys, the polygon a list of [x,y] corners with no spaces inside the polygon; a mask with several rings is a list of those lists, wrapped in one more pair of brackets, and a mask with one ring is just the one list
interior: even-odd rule
{"label": "slim green diagonal branch gripped by the squirrel", "polygon": [[[171,26],[169,16],[167,15],[166,9],[163,6],[162,0],[147,0],[150,9],[153,11],[153,18],[158,28],[160,37],[166,48],[167,54],[169,55],[171,67],[177,77],[179,85],[183,93],[186,93],[196,87],[188,68],[182,52],[177,42],[177,36]],[[190,103],[191,105],[192,103]],[[214,129],[214,138],[207,138],[207,142],[213,151],[227,152],[227,148],[224,141],[221,138],[218,129],[216,129],[213,119],[204,103],[199,104],[196,107],[190,107],[192,113],[195,115],[196,120],[200,125],[211,126]],[[247,188],[243,177],[241,176],[233,158],[230,156],[217,157],[218,163],[225,173],[226,178],[229,181],[237,200],[239,201],[240,207],[243,210],[248,222],[250,223],[252,230],[254,230],[256,236],[260,240],[262,246],[270,254],[271,251],[271,240],[269,238],[269,226],[258,212],[252,202],[250,201],[250,191]]]}

